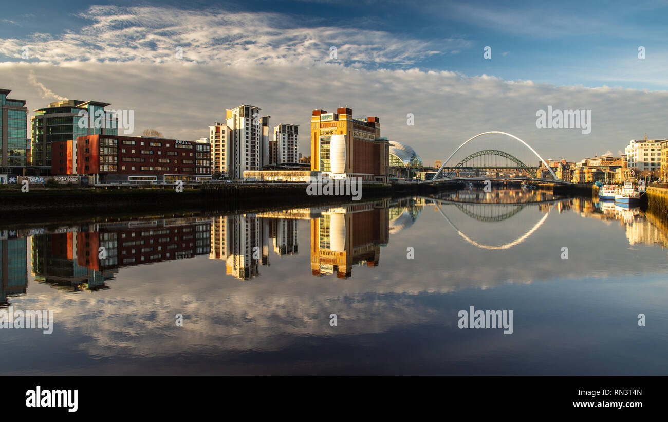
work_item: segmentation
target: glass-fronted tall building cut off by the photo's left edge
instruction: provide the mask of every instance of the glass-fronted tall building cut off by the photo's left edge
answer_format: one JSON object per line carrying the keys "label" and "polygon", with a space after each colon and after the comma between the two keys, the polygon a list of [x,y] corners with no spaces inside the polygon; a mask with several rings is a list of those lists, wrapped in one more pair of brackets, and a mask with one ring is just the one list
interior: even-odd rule
{"label": "glass-fronted tall building cut off by the photo's left edge", "polygon": [[25,99],[11,99],[11,89],[0,89],[0,173],[23,174],[29,148],[26,148],[28,109]]}

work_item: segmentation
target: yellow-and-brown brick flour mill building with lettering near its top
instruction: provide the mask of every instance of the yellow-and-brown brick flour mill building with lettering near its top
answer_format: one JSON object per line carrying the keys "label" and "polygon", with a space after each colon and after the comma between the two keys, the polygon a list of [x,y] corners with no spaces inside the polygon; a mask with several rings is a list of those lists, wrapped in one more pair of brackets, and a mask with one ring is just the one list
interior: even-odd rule
{"label": "yellow-and-brown brick flour mill building with lettering near its top", "polygon": [[353,119],[350,108],[338,108],[336,113],[313,110],[311,170],[328,177],[387,183],[389,141],[380,136],[380,119]]}

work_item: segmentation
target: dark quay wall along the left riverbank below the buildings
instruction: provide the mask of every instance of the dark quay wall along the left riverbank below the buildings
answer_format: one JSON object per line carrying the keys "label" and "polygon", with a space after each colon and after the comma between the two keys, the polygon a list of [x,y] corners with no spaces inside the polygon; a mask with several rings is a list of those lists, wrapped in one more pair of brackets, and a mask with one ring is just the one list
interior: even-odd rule
{"label": "dark quay wall along the left riverbank below the buildings", "polygon": [[[454,190],[458,184],[412,188],[393,188],[383,184],[362,184],[361,199],[431,194]],[[82,220],[96,215],[146,214],[216,210],[238,212],[263,210],[276,206],[309,206],[352,202],[351,195],[309,195],[307,184],[221,183],[160,187],[42,188],[32,186],[21,192],[20,185],[0,186],[0,221],[41,221],[57,219]]]}

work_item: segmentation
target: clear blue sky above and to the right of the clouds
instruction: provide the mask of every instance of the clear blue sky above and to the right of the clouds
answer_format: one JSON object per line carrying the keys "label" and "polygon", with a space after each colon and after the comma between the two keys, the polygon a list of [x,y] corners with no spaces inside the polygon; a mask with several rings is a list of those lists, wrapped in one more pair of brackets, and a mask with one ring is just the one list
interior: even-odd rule
{"label": "clear blue sky above and to the right of the clouds", "polygon": [[[0,37],[61,35],[90,24],[77,16],[90,1],[36,1],[3,6]],[[411,63],[424,69],[496,75],[560,85],[667,89],[665,71],[643,69],[668,61],[666,1],[98,1],[100,5],[158,5],[192,11],[275,12],[305,27],[338,26],[386,31],[452,51]],[[258,9],[259,7],[259,9]],[[34,15],[34,16],[32,16]],[[11,21],[11,22],[8,22]],[[482,49],[492,47],[492,59]],[[639,46],[645,61],[637,59]],[[373,67],[373,63],[368,64]],[[391,67],[391,66],[390,66]],[[665,68],[664,68],[665,69]],[[655,77],[649,77],[649,76]]]}

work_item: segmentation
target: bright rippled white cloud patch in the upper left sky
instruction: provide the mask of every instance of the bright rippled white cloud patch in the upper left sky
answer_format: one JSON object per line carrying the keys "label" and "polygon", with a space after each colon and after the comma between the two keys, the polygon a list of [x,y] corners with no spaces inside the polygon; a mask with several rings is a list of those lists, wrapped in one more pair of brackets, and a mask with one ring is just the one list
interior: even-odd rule
{"label": "bright rippled white cloud patch in the upper left sky", "polygon": [[[20,59],[29,46],[34,61],[176,61],[176,47],[192,63],[299,64],[333,61],[355,67],[406,66],[471,45],[465,39],[422,41],[385,31],[305,26],[278,13],[183,11],[162,7],[92,6],[79,31],[33,34],[0,41],[0,54]],[[330,47],[337,57],[330,57]]]}

